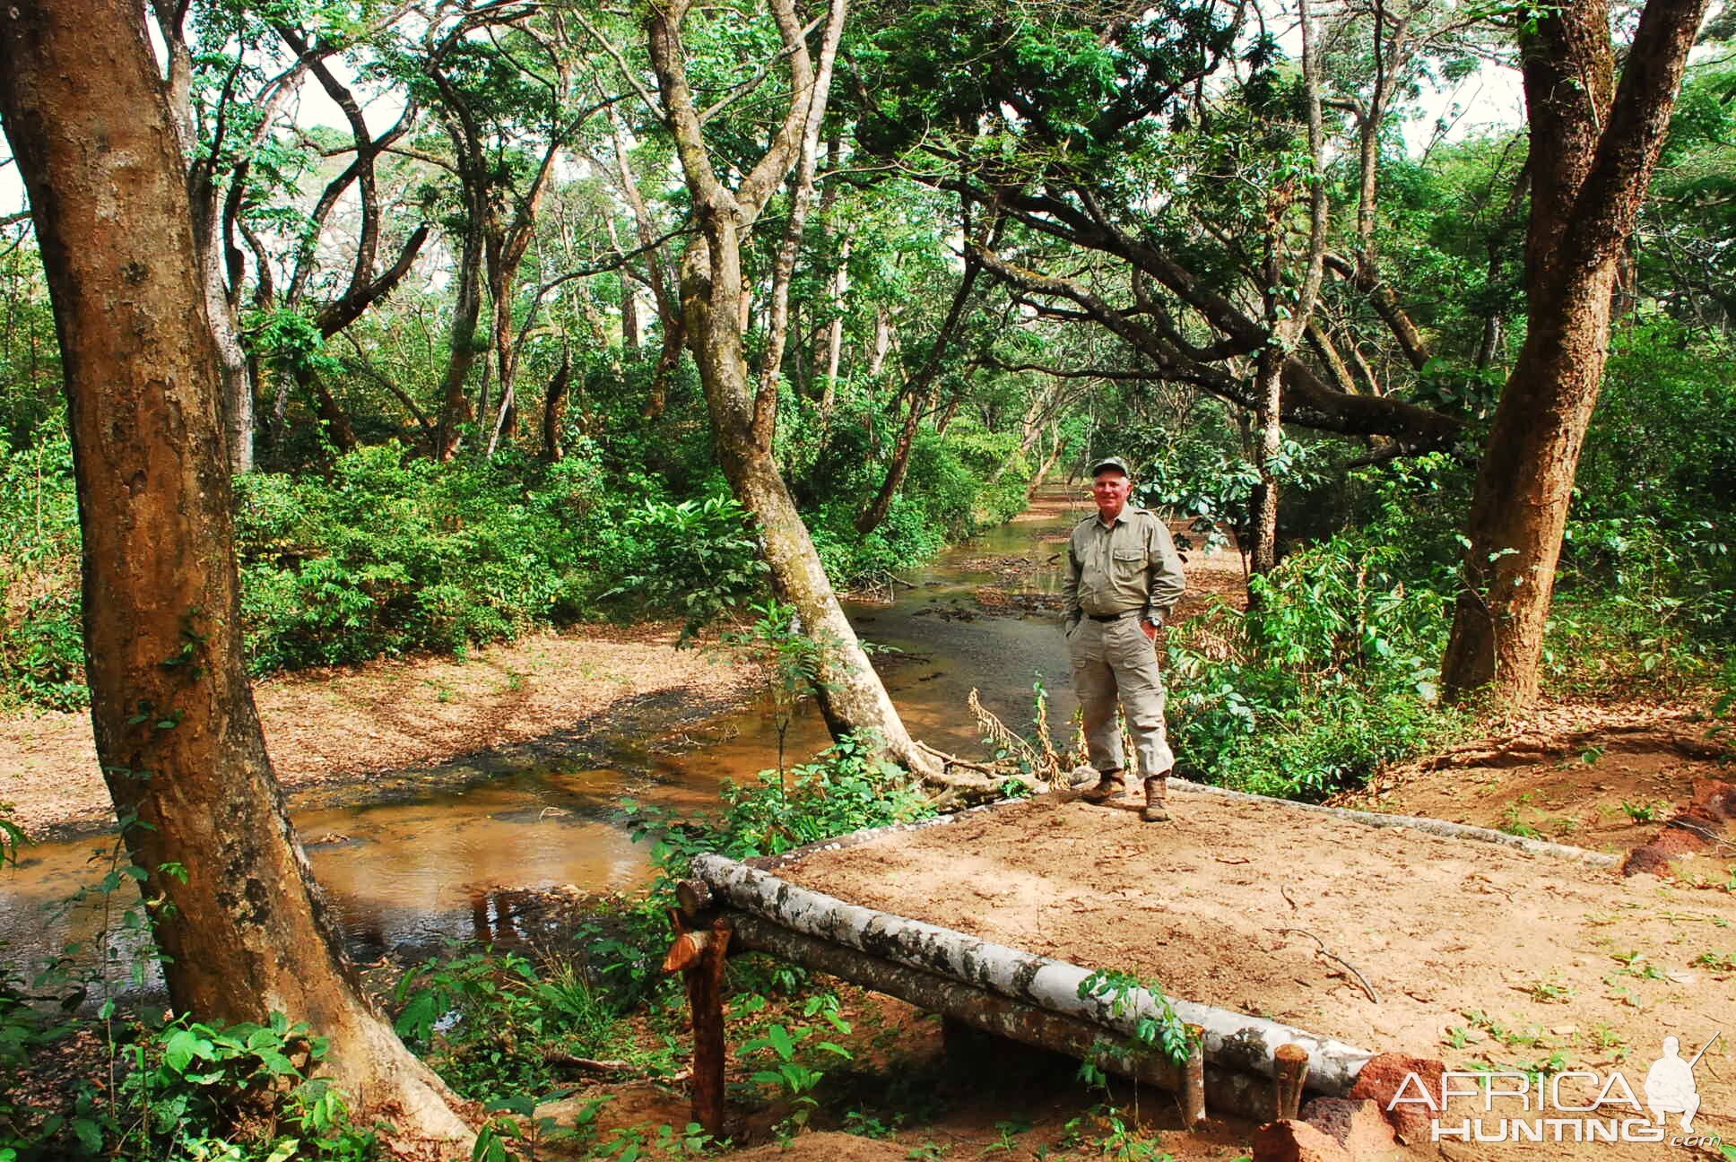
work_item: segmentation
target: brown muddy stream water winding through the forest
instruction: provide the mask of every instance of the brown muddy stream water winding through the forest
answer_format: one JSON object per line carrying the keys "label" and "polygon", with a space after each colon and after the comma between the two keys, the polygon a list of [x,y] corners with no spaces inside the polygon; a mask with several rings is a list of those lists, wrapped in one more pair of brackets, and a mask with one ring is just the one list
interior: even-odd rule
{"label": "brown muddy stream water winding through the forest", "polygon": [[[847,601],[858,634],[887,646],[875,655],[911,735],[941,750],[981,756],[965,702],[972,688],[1009,726],[1031,721],[1031,683],[1043,676],[1052,721],[1071,717],[1066,650],[1059,629],[1062,535],[1087,512],[1083,495],[1045,495],[1024,516],[903,573],[887,603]],[[785,754],[804,761],[828,742],[806,707]],[[446,940],[556,943],[547,915],[528,898],[571,888],[580,895],[630,891],[649,877],[649,853],[628,835],[621,799],[674,811],[717,804],[722,780],[752,780],[778,763],[769,700],[681,733],[606,738],[583,756],[545,766],[477,771],[462,763],[431,771],[425,792],[391,802],[295,809],[314,874],[330,893],[351,954],[370,962],[415,955]],[[366,789],[361,789],[366,794]],[[127,990],[139,938],[120,914],[137,901],[130,884],[89,891],[113,867],[113,835],[26,848],[19,868],[0,872],[0,966],[35,973],[68,943],[109,987]],[[87,896],[71,901],[87,889]],[[108,992],[99,987],[94,992]]]}

